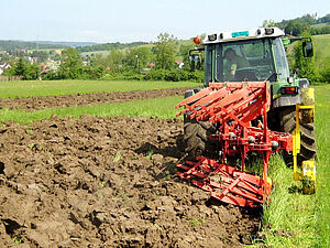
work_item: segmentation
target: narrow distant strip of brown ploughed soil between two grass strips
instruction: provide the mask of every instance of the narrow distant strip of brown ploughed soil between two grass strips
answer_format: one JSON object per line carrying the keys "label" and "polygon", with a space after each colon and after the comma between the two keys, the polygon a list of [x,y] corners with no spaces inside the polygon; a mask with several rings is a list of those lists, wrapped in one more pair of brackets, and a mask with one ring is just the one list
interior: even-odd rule
{"label": "narrow distant strip of brown ploughed soil between two grass strips", "polygon": [[45,108],[64,108],[103,103],[122,103],[128,100],[167,97],[175,95],[184,96],[187,89],[189,88],[167,88],[63,96],[14,97],[4,99],[0,98],[0,108],[40,110]]}

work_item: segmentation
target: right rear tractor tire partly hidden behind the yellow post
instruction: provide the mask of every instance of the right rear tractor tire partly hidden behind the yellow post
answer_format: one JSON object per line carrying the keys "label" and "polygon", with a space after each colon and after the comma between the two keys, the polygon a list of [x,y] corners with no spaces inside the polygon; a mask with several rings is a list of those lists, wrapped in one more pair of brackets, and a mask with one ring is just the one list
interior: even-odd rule
{"label": "right rear tractor tire partly hidden behind the yellow post", "polygon": [[[280,114],[282,131],[293,133],[296,129],[296,106],[285,108]],[[302,123],[300,120],[300,153],[298,154],[298,164],[306,160],[316,160],[317,145],[315,136],[315,123]],[[284,152],[284,160],[287,164],[293,163],[293,157]]]}

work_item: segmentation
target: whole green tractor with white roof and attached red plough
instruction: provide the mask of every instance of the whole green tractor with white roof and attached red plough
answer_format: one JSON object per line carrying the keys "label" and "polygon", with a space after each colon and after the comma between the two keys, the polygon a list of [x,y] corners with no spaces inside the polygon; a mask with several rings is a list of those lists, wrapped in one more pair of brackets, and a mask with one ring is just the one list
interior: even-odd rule
{"label": "whole green tractor with white roof and attached red plough", "polygon": [[[282,151],[294,179],[307,194],[316,191],[314,89],[290,74],[285,46],[301,41],[314,56],[310,37],[287,37],[278,28],[221,32],[196,37],[189,51],[193,69],[205,63],[205,87],[185,93],[184,141],[187,161],[178,175],[211,196],[240,206],[268,200],[272,153]],[[246,172],[253,154],[263,159],[263,175]],[[240,161],[241,166],[232,161]]]}

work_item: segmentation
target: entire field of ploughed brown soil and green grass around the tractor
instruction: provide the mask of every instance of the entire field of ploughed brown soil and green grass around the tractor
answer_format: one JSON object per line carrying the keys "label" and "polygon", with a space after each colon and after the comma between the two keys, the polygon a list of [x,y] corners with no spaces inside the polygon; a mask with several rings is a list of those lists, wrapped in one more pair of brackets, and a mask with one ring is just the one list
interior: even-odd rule
{"label": "entire field of ploughed brown soil and green grass around the tractor", "polygon": [[330,86],[316,87],[317,194],[302,195],[275,154],[272,201],[258,211],[221,204],[176,176],[175,105],[198,86],[1,84],[0,246],[329,247]]}

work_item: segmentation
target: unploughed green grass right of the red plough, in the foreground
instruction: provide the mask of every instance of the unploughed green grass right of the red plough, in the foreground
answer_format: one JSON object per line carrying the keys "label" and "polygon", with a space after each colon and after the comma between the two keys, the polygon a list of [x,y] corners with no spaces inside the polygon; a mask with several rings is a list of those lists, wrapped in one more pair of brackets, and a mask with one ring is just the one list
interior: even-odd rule
{"label": "unploughed green grass right of the red plough, in the foreground", "polygon": [[316,93],[317,193],[301,194],[293,170],[279,155],[272,158],[270,176],[275,183],[263,216],[267,247],[330,247],[330,85],[316,87]]}

